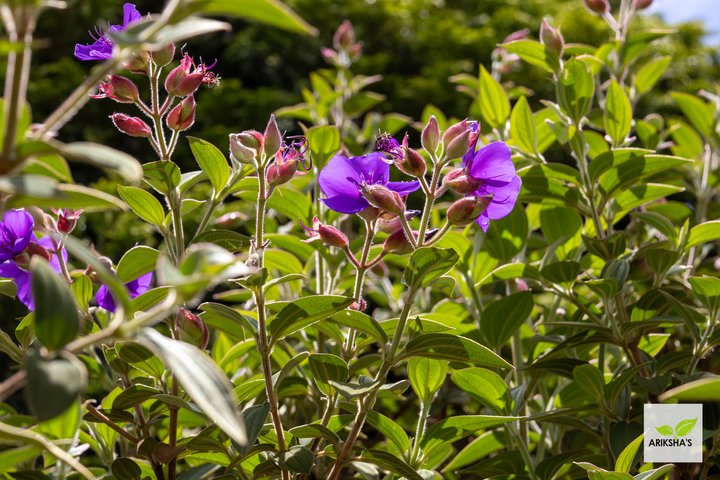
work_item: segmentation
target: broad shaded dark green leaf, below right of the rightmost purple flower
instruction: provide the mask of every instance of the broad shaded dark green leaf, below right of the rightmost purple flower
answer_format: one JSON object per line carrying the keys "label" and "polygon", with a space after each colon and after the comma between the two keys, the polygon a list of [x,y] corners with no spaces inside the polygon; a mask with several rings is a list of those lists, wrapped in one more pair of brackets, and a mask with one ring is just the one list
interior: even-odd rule
{"label": "broad shaded dark green leaf, below right of the rightmost purple flower", "polygon": [[481,328],[496,349],[510,340],[530,316],[531,292],[518,292],[488,305],[482,314]]}

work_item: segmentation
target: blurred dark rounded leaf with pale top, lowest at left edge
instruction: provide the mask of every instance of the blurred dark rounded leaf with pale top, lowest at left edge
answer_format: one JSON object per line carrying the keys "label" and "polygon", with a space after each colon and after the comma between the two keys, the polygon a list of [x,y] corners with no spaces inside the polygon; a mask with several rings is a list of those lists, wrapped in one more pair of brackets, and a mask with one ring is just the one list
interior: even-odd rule
{"label": "blurred dark rounded leaf with pale top, lowest at left edge", "polygon": [[30,350],[25,370],[28,404],[40,421],[65,413],[87,386],[85,366],[70,354],[46,358]]}

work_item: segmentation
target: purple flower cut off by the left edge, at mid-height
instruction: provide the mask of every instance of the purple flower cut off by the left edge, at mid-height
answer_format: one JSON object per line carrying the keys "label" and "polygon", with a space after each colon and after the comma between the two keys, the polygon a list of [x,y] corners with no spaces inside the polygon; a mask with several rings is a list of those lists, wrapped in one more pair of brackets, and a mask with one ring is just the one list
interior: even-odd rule
{"label": "purple flower cut off by the left edge, at mid-height", "polygon": [[[60,262],[50,237],[38,238],[33,233],[35,222],[25,210],[10,210],[0,221],[0,277],[12,279],[17,287],[17,298],[28,309],[35,309],[32,297],[32,275],[27,263],[34,254],[49,258],[50,266],[60,272]],[[67,261],[67,252],[63,249]],[[16,260],[17,259],[17,260]]]}

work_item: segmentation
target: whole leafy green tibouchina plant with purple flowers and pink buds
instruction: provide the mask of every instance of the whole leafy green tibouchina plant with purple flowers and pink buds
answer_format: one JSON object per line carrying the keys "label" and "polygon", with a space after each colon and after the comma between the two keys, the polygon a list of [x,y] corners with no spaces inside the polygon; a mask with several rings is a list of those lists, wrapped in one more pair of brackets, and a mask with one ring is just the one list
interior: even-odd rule
{"label": "whole leafy green tibouchina plant with purple flowers and pink buds", "polygon": [[[371,111],[381,77],[353,74],[345,21],[305,102],[218,148],[187,132],[222,62],[186,42],[228,30],[219,13],[316,33],[287,7],[126,3],[75,47],[85,82],[31,125],[54,4],[5,2],[0,293],[24,313],[3,311],[0,475],[720,474],[720,99],[674,92],[678,115],[639,118],[671,60],[653,57],[669,31],[631,28],[650,3],[585,0],[613,37],[597,47],[547,19],[539,41],[506,32],[489,70],[451,78],[467,118],[429,105],[416,123]],[[505,78],[522,68],[555,97],[523,96]],[[107,126],[141,161],[63,140],[88,101],[114,102]],[[185,144],[199,168],[181,170]],[[115,190],[72,183],[67,161]],[[157,242],[109,258],[98,211]],[[644,464],[643,404],[675,401],[705,402],[704,463]]]}

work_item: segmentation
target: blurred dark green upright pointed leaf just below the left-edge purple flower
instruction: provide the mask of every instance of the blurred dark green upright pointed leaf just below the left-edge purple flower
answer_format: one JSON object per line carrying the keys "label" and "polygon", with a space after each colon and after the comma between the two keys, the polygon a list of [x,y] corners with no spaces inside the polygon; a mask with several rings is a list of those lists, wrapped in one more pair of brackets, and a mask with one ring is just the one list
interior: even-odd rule
{"label": "blurred dark green upright pointed leaf just below the left-edge purple flower", "polygon": [[70,285],[40,257],[30,261],[35,301],[35,335],[40,343],[57,350],[77,337],[80,315]]}

